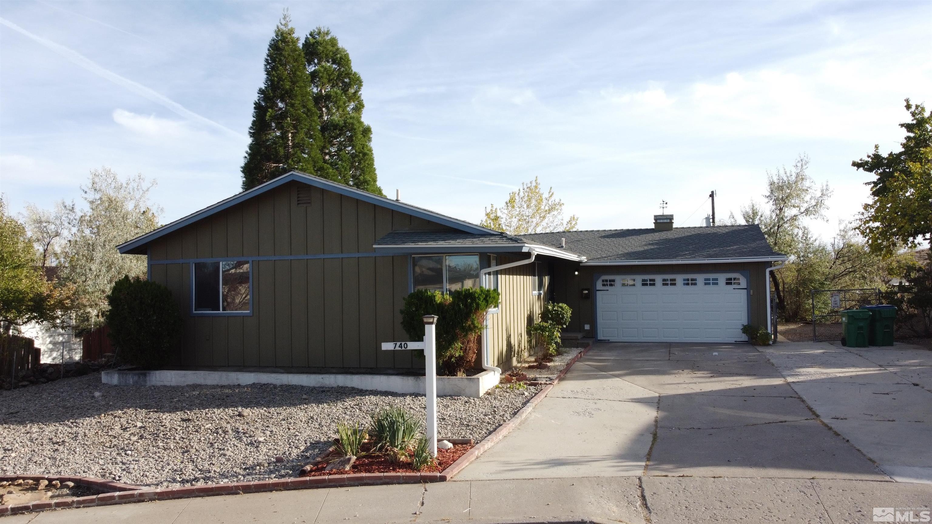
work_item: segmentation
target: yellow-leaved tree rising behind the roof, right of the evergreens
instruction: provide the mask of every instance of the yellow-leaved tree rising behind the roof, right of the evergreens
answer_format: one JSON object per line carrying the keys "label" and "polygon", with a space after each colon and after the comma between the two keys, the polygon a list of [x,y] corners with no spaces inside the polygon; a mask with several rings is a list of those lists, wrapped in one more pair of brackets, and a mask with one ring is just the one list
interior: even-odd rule
{"label": "yellow-leaved tree rising behind the roof, right of the evergreens", "polygon": [[535,176],[531,182],[521,184],[512,191],[504,205],[489,205],[486,217],[480,223],[484,228],[504,231],[512,235],[543,233],[548,231],[572,231],[579,224],[575,214],[563,219],[563,200],[554,196],[551,187],[544,195],[541,182]]}

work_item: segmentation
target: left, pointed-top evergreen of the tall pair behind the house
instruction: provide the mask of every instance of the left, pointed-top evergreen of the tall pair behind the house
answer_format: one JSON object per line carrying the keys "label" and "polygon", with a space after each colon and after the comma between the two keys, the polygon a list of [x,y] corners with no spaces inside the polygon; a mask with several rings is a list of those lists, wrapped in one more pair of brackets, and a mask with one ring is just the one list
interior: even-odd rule
{"label": "left, pointed-top evergreen of the tall pair behind the house", "polygon": [[291,170],[325,175],[321,172],[321,123],[301,42],[287,10],[268,42],[265,70],[242,164],[243,190]]}

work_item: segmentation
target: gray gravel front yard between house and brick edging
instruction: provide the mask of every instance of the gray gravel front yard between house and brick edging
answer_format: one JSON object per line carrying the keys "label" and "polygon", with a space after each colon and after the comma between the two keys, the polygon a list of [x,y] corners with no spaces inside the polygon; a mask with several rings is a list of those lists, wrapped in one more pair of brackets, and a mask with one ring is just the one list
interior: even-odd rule
{"label": "gray gravel front yard between house and brick edging", "polygon": [[[441,437],[485,438],[540,390],[440,397]],[[0,472],[169,487],[295,476],[340,421],[424,397],[304,386],[109,386],[94,373],[0,391]],[[276,462],[281,457],[282,462]]]}

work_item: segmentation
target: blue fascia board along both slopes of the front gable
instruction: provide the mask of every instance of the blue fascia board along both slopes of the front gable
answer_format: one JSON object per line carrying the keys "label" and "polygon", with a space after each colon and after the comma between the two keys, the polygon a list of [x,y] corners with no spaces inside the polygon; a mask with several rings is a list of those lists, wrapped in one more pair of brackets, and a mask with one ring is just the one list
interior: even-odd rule
{"label": "blue fascia board along both slopes of the front gable", "polygon": [[198,220],[202,218],[206,218],[207,216],[210,216],[211,214],[221,212],[225,210],[226,208],[232,207],[244,200],[249,200],[260,193],[264,193],[268,191],[269,189],[274,189],[275,187],[281,186],[282,184],[286,184],[293,180],[298,181],[298,182],[303,182],[305,184],[308,184],[309,186],[320,187],[322,189],[333,191],[341,195],[346,195],[348,197],[352,197],[358,200],[370,202],[378,206],[387,207],[389,209],[400,211],[402,213],[413,214],[425,220],[437,222],[439,224],[443,224],[444,226],[447,226],[450,228],[456,228],[461,231],[467,231],[467,232],[475,233],[475,234],[488,234],[488,233],[499,232],[493,229],[482,228],[481,226],[476,226],[475,224],[470,224],[469,222],[464,222],[462,220],[451,218],[443,214],[436,214],[436,213],[433,213],[432,211],[428,211],[428,210],[424,210],[424,209],[421,209],[415,206],[404,204],[397,200],[390,200],[390,199],[386,199],[385,197],[379,197],[377,195],[373,195],[372,193],[363,191],[362,189],[356,189],[354,187],[343,186],[342,184],[337,184],[336,182],[330,182],[329,180],[323,180],[322,178],[311,176],[303,172],[292,171],[292,172],[287,172],[273,180],[269,180],[265,184],[260,184],[259,186],[255,186],[252,189],[243,191],[226,200],[220,200],[219,202],[211,206],[205,207],[204,209],[198,212],[188,214],[185,217],[179,218],[178,220],[171,222],[171,224],[166,224],[165,226],[162,226],[161,228],[157,228],[152,231],[149,231],[148,233],[145,233],[144,235],[136,237],[135,239],[132,239],[131,241],[126,241],[124,243],[121,243],[117,246],[117,250],[121,254],[126,255],[130,253],[131,251],[133,251],[134,249],[141,247],[146,242],[154,241],[163,235],[171,233],[172,231],[175,231],[180,228],[184,228],[185,226],[188,226],[194,222],[197,222]]}

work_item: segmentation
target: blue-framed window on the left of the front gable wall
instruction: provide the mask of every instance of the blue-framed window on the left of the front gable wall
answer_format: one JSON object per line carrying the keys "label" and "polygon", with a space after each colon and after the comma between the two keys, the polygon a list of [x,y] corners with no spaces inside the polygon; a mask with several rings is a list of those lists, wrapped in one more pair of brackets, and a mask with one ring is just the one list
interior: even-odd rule
{"label": "blue-framed window on the left of the front gable wall", "polygon": [[250,312],[249,261],[195,262],[193,266],[195,313]]}

